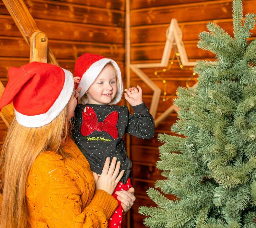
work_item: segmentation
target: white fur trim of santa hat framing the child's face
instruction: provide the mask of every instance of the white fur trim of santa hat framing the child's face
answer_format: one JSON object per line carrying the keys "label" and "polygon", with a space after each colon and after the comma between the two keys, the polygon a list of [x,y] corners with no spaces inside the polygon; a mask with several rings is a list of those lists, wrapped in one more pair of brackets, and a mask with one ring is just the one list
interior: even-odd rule
{"label": "white fur trim of santa hat framing the child's face", "polygon": [[[97,62],[93,63],[83,74],[78,87],[82,87],[82,90],[79,93],[78,96],[78,100],[81,99],[81,97],[85,94],[85,92],[90,88],[90,86],[93,84],[93,82],[95,81],[95,79],[98,77],[98,75],[100,74],[100,72],[102,71],[102,69],[105,67],[106,64],[108,63],[112,63],[118,80],[119,80],[119,88],[116,92],[116,95],[113,99],[113,101],[111,103],[109,103],[109,105],[113,105],[118,103],[121,100],[122,94],[123,94],[123,82],[122,82],[122,75],[121,75],[121,70],[119,68],[119,66],[117,65],[117,63],[112,60],[112,59],[107,59],[107,58],[103,58],[98,60]],[[87,102],[87,101],[86,101]]]}

